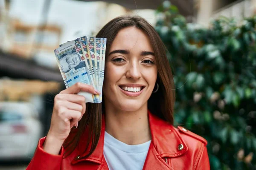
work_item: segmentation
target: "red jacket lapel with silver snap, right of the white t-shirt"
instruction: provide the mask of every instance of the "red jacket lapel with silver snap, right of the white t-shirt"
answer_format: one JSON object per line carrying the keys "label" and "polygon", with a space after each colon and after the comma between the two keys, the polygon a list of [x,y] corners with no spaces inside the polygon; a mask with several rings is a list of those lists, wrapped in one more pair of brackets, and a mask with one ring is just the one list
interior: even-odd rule
{"label": "red jacket lapel with silver snap, right of the white t-shirt", "polygon": [[[165,159],[181,156],[188,150],[175,127],[163,121],[148,111],[148,120],[151,130],[151,145],[145,160],[143,170],[173,170],[170,162]],[[178,146],[183,148],[179,150]]]}

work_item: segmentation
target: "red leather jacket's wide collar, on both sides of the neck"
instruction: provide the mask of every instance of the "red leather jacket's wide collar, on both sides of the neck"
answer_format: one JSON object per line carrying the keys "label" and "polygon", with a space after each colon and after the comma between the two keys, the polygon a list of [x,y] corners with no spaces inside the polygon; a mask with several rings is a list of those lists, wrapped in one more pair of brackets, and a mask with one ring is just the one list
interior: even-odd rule
{"label": "red leather jacket's wide collar, on both sides of the neck", "polygon": [[[148,120],[151,130],[151,147],[150,150],[154,149],[157,154],[157,157],[161,158],[174,158],[177,156],[183,155],[188,147],[186,143],[181,138],[177,129],[170,125],[168,122],[160,119],[159,117],[152,114],[148,111]],[[95,163],[101,164],[104,159],[103,155],[103,146],[104,146],[104,135],[105,135],[105,116],[102,114],[102,130],[99,138],[99,143],[94,150],[94,152],[87,158],[83,159],[83,157],[89,152],[85,150],[87,135],[84,133],[81,136],[79,141],[78,148],[76,150],[77,156],[80,156],[81,159],[76,159],[76,157],[71,162],[72,164],[76,164],[80,161],[93,161]],[[183,149],[179,150],[178,146],[182,144]]]}

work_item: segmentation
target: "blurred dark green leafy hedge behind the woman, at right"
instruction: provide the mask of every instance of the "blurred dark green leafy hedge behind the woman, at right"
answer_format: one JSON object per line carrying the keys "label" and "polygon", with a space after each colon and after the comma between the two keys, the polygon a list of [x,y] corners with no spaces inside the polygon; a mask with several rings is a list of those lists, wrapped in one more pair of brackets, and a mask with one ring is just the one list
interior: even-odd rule
{"label": "blurred dark green leafy hedge behind the woman, at right", "polygon": [[256,17],[187,23],[165,1],[155,29],[176,86],[175,122],[208,141],[211,170],[256,169]]}

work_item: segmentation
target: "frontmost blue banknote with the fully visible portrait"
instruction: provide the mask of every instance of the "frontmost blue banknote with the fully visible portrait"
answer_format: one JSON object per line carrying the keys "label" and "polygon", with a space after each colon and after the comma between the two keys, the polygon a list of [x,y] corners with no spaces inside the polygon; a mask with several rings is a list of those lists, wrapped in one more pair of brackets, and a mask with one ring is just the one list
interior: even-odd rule
{"label": "frontmost blue banknote with the fully visible portrait", "polygon": [[[59,48],[54,50],[54,53],[66,88],[76,84],[76,82],[91,84],[90,81],[92,80],[90,80],[88,74],[82,44],[79,39],[60,45]],[[93,94],[87,92],[80,92],[79,94],[85,97],[86,102],[99,102],[99,99]]]}

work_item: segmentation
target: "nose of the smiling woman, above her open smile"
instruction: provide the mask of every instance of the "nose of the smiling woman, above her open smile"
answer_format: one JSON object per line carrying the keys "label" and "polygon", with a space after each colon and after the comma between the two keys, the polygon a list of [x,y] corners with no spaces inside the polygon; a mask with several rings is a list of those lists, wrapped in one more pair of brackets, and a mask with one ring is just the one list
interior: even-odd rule
{"label": "nose of the smiling woman, above her open smile", "polygon": [[141,78],[140,67],[137,61],[129,63],[125,76],[134,80]]}

